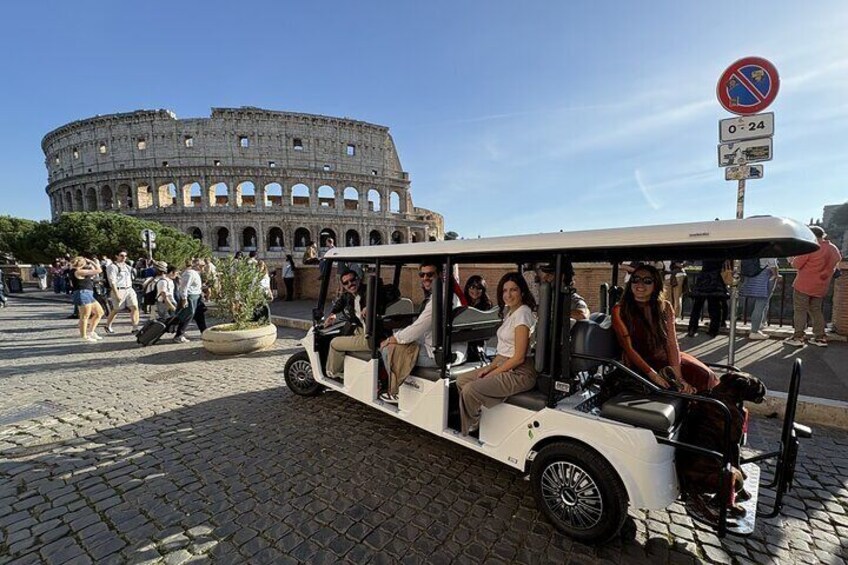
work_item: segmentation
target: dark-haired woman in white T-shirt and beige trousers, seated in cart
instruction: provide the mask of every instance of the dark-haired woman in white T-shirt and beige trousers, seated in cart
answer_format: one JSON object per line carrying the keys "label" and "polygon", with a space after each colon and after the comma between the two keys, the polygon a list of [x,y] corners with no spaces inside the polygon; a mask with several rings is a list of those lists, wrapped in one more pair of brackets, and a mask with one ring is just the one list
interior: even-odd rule
{"label": "dark-haired woman in white T-shirt and beige trousers, seated in cart", "polygon": [[503,323],[498,328],[497,356],[491,364],[456,381],[463,435],[477,430],[483,406],[491,408],[536,386],[536,368],[529,357],[536,301],[524,277],[512,272],[501,278],[498,305]]}

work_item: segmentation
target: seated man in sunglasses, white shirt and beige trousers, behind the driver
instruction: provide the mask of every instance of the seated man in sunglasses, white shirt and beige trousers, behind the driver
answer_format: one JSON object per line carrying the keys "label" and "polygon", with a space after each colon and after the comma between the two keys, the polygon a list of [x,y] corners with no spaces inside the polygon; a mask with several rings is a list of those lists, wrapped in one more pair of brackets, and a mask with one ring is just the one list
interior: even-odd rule
{"label": "seated man in sunglasses, white shirt and beige trousers, behind the driver", "polygon": [[[386,371],[389,373],[390,383],[389,390],[380,394],[380,399],[384,402],[397,404],[397,389],[409,375],[409,370],[413,367],[436,366],[436,360],[433,355],[433,301],[430,300],[430,297],[433,292],[433,281],[436,280],[436,277],[441,276],[441,274],[441,265],[432,263],[421,264],[418,268],[418,278],[421,281],[421,290],[424,291],[424,302],[421,304],[418,318],[409,326],[396,331],[394,335],[383,340],[380,344],[383,363],[385,364]],[[408,358],[406,353],[415,351],[415,348],[394,347],[398,345],[411,345],[413,343],[418,346],[417,358],[414,360]],[[400,354],[401,351],[404,354]]]}

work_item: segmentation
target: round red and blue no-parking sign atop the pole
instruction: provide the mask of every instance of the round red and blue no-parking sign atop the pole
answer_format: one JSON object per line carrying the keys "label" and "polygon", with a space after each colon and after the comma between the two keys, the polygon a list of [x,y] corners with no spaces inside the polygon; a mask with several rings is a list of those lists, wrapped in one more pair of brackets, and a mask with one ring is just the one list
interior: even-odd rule
{"label": "round red and blue no-parking sign atop the pole", "polygon": [[716,96],[725,110],[750,115],[765,110],[780,89],[777,69],[761,57],[739,59],[722,73]]}

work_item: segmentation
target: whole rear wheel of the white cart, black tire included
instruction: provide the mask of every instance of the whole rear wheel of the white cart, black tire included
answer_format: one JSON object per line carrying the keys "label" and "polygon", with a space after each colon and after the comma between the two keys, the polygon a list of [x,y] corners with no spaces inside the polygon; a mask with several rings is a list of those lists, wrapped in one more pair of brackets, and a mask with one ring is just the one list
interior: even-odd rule
{"label": "whole rear wheel of the white cart, black tire included", "polygon": [[596,451],[560,441],[543,447],[530,471],[533,497],[558,530],[588,544],[618,535],[627,518],[627,491]]}

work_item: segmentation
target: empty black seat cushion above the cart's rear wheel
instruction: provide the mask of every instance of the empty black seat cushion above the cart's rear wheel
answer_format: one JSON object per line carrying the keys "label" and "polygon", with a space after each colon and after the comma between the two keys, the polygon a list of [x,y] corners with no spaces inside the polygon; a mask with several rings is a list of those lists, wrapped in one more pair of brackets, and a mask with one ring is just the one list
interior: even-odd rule
{"label": "empty black seat cushion above the cart's rear wheel", "polygon": [[669,434],[683,416],[686,401],[650,394],[623,392],[601,406],[601,416],[660,434]]}

